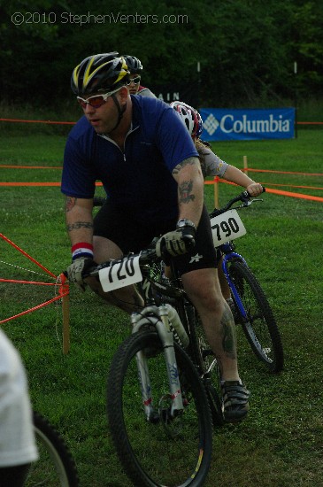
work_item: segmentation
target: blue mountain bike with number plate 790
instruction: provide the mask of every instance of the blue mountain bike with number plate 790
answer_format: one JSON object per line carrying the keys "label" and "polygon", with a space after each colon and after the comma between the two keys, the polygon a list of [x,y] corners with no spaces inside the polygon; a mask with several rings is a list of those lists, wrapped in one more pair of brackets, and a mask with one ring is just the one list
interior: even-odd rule
{"label": "blue mountain bike with number plate 790", "polygon": [[[241,326],[252,352],[271,373],[281,372],[284,353],[281,334],[265,292],[242,255],[235,251],[234,240],[246,229],[236,209],[262,201],[250,199],[247,191],[231,199],[223,208],[210,213],[213,242],[222,256],[222,270],[233,299],[235,324]],[[233,206],[240,202],[241,205]]]}

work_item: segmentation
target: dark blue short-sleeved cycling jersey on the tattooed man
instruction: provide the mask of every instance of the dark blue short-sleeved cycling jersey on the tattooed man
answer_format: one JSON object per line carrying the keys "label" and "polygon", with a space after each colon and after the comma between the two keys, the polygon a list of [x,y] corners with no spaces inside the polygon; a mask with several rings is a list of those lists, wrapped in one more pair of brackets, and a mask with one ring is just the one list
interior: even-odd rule
{"label": "dark blue short-sleeved cycling jersey on the tattooed man", "polygon": [[178,213],[172,171],[186,158],[198,157],[188,129],[173,108],[157,98],[131,96],[132,127],[123,151],[98,135],[86,117],[65,145],[62,192],[91,198],[103,182],[112,205],[142,221],[169,220]]}

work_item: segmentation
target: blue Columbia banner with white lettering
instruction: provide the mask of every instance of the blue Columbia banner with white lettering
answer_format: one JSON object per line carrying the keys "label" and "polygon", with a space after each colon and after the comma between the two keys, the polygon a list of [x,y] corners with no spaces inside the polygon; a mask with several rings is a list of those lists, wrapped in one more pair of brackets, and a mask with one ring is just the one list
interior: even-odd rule
{"label": "blue Columbia banner with white lettering", "polygon": [[201,108],[205,141],[294,138],[295,108]]}

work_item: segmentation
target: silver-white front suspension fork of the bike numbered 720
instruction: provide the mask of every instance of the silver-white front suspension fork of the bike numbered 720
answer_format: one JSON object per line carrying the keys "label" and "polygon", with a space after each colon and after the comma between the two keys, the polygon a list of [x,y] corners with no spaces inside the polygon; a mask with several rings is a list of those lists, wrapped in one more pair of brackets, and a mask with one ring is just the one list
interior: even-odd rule
{"label": "silver-white front suspension fork of the bike numbered 720", "polygon": [[[178,373],[178,367],[175,357],[175,351],[173,346],[173,333],[169,328],[169,321],[166,313],[162,313],[162,316],[158,313],[156,306],[148,306],[142,313],[133,313],[131,317],[133,325],[133,333],[147,324],[147,318],[145,314],[153,313],[149,317],[150,324],[153,325],[158,332],[158,336],[161,340],[165,364],[167,370],[167,377],[169,383],[169,398],[171,399],[171,417],[180,414],[183,411],[183,400],[181,396],[181,383]],[[152,390],[150,384],[150,374],[148,367],[148,360],[145,351],[136,353],[136,361],[138,367],[138,378],[142,390],[142,404],[147,421],[154,421],[156,418],[156,407],[153,406]]]}

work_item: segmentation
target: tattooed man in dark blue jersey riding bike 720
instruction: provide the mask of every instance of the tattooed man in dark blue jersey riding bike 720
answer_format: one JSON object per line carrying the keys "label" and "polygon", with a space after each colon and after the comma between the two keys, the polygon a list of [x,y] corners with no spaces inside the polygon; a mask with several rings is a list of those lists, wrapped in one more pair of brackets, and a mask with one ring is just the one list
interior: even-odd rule
{"label": "tattooed man in dark blue jersey riding bike 720", "polygon": [[[158,248],[175,256],[219,361],[225,418],[237,421],[248,413],[249,391],[238,373],[234,319],[219,287],[198,153],[172,107],[129,94],[129,74],[117,52],[89,56],[73,70],[84,116],[68,136],[62,174],[73,259],[68,277],[84,290],[82,273],[94,262],[140,251],[160,235]],[[96,180],[109,197],[93,219]],[[105,293],[95,278],[86,283],[128,313],[143,305],[133,286]]]}

